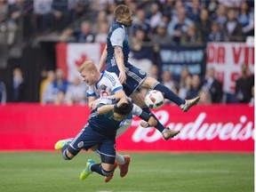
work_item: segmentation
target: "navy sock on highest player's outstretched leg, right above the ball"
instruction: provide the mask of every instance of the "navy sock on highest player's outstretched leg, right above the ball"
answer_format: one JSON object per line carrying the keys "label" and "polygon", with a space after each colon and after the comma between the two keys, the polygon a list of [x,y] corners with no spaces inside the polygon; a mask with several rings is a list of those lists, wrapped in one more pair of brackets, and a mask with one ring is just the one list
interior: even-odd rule
{"label": "navy sock on highest player's outstretched leg, right above the ball", "polygon": [[159,92],[163,92],[164,99],[172,100],[172,102],[176,103],[176,105],[178,106],[185,104],[185,100],[178,97],[174,92],[172,92],[172,90],[164,86],[164,84],[156,84],[156,86],[153,89]]}

